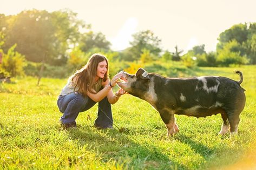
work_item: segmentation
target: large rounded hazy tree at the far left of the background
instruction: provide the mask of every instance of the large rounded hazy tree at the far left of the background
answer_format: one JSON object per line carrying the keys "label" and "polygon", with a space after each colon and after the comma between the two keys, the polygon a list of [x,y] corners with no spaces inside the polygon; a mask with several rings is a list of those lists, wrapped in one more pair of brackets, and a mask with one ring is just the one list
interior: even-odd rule
{"label": "large rounded hazy tree at the far left of the background", "polygon": [[17,44],[16,50],[33,62],[41,62],[54,41],[54,25],[47,11],[22,11],[11,17],[6,33],[5,49]]}

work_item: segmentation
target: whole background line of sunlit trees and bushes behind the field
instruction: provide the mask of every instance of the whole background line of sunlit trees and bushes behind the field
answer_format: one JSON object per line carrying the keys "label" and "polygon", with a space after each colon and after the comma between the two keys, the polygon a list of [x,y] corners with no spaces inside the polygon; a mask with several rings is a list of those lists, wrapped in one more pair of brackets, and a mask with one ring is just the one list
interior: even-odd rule
{"label": "whole background line of sunlit trees and bushes behind the field", "polygon": [[177,45],[169,47],[174,51],[161,49],[161,38],[150,30],[137,32],[133,38],[127,49],[116,52],[102,32],[91,30],[90,24],[70,10],[0,14],[0,74],[37,76],[44,64],[45,76],[63,77],[86,64],[95,52],[109,58],[113,73],[175,61],[186,67],[256,64],[256,23],[233,25],[221,32],[216,51],[208,53],[204,44],[185,54]]}

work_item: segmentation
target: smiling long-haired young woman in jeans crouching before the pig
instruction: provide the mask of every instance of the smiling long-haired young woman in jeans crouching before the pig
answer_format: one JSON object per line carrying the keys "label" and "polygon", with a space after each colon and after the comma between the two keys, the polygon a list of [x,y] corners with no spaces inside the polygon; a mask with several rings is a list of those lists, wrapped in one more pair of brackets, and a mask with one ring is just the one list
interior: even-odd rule
{"label": "smiling long-haired young woman in jeans crouching before the pig", "polygon": [[119,78],[121,74],[116,74],[110,81],[107,58],[97,53],[92,55],[82,69],[69,77],[58,97],[57,105],[63,113],[60,119],[63,127],[76,127],[78,113],[87,111],[99,102],[94,125],[97,128],[112,128],[111,104],[115,104],[125,93],[123,89],[115,94],[112,91]]}

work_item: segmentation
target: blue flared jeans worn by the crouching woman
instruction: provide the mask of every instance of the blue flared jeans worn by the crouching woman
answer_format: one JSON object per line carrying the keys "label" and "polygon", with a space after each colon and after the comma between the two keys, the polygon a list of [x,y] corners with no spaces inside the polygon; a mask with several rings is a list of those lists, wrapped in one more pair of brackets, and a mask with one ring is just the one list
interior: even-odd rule
{"label": "blue flared jeans worn by the crouching woman", "polygon": [[[96,104],[88,96],[83,97],[82,94],[74,92],[65,96],[60,95],[57,100],[59,110],[63,113],[61,117],[62,124],[74,124],[78,113],[89,110]],[[75,123],[76,124],[76,123]],[[98,115],[94,121],[94,125],[99,128],[113,127],[113,117],[111,104],[105,97],[99,102]]]}

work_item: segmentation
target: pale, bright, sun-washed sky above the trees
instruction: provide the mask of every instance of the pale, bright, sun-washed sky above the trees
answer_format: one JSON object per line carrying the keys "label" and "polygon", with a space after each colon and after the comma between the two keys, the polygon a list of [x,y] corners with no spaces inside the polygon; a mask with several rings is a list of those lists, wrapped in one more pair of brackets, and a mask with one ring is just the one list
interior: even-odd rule
{"label": "pale, bright, sun-washed sky above the trees", "polygon": [[102,32],[111,49],[129,46],[132,35],[151,30],[159,37],[161,48],[174,52],[205,44],[214,51],[221,32],[234,24],[256,22],[255,0],[0,0],[0,13],[15,15],[22,10],[48,12],[70,9],[77,18]]}

